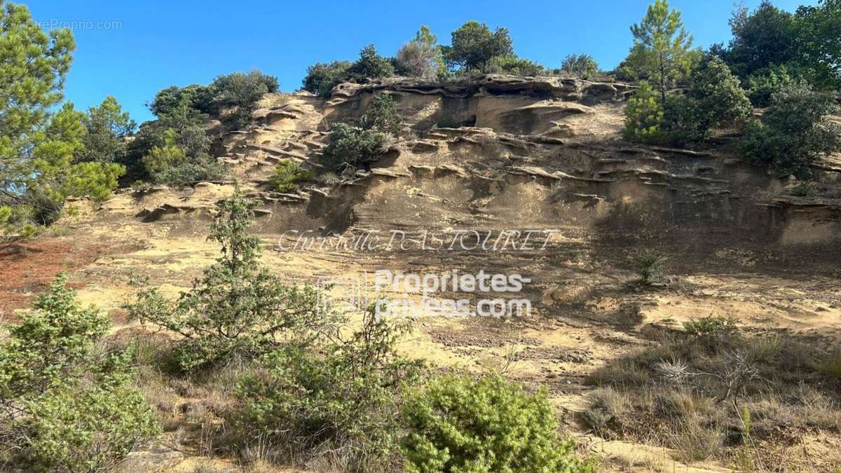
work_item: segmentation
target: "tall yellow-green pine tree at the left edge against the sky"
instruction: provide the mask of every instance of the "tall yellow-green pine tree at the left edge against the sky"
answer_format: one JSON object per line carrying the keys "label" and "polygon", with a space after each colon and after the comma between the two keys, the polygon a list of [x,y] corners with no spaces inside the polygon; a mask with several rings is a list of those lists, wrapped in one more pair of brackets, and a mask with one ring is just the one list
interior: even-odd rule
{"label": "tall yellow-green pine tree at the left edge against the sky", "polygon": [[[79,162],[85,115],[61,103],[75,48],[68,29],[45,32],[23,5],[0,0],[0,208],[13,236],[50,224],[70,195],[105,199],[124,167]],[[4,211],[4,214],[8,211]]]}

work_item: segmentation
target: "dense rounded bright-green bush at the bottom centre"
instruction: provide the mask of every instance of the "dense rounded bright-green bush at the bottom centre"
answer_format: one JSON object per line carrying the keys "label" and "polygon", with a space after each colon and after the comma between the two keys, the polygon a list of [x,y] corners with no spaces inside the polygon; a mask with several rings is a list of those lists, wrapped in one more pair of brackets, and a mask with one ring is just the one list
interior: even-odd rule
{"label": "dense rounded bright-green bush at the bottom centre", "polygon": [[406,470],[584,471],[558,436],[546,391],[526,394],[498,375],[445,376],[406,402]]}

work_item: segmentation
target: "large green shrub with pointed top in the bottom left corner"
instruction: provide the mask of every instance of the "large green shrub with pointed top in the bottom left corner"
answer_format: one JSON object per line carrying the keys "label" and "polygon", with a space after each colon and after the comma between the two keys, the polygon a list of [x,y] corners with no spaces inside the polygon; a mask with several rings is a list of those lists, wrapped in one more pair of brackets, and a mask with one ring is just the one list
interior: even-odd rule
{"label": "large green shrub with pointed top in the bottom left corner", "polygon": [[[98,471],[157,432],[131,387],[131,353],[98,353],[108,318],[83,309],[60,275],[0,345],[0,462]],[[5,455],[12,455],[11,458]]]}

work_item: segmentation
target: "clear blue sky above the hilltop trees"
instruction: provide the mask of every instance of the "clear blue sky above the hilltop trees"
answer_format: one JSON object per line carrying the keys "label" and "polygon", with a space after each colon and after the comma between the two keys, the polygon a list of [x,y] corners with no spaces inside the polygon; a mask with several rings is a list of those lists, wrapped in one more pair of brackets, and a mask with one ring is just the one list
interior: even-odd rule
{"label": "clear blue sky above the hilltop trees", "polygon": [[[564,56],[587,53],[610,69],[627,55],[630,24],[648,0],[474,0],[352,3],[222,2],[217,0],[30,0],[36,21],[76,22],[77,51],[66,98],[87,109],[114,95],[138,122],[150,120],[145,103],[161,88],[208,83],[228,72],[260,69],[280,88],[300,87],[307,66],[352,60],[373,43],[392,56],[421,24],[442,44],[469,19],[505,26],[520,56],[557,67]],[[754,8],[759,0],[745,2]],[[777,0],[793,11],[814,0]],[[673,0],[696,45],[727,41],[732,0]],[[89,23],[88,23],[89,22]],[[112,24],[107,25],[108,22]],[[103,23],[100,25],[100,23]],[[119,24],[118,24],[119,23]],[[118,24],[116,27],[114,24]],[[89,26],[92,26],[89,27]],[[102,26],[102,27],[100,27]]]}

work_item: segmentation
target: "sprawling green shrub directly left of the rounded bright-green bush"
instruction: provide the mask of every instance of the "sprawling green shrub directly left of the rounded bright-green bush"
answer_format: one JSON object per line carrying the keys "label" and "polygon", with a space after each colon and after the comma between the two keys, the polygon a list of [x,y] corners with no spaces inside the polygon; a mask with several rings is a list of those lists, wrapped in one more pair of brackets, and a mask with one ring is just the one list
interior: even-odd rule
{"label": "sprawling green shrub directly left of the rounded bright-green bush", "polygon": [[247,439],[269,433],[304,457],[341,452],[350,470],[392,470],[399,455],[402,385],[421,364],[399,356],[405,326],[368,311],[347,340],[319,350],[281,349],[264,356],[236,386],[234,425]]}

